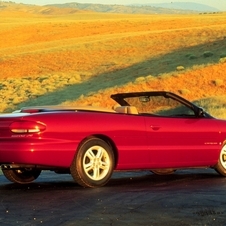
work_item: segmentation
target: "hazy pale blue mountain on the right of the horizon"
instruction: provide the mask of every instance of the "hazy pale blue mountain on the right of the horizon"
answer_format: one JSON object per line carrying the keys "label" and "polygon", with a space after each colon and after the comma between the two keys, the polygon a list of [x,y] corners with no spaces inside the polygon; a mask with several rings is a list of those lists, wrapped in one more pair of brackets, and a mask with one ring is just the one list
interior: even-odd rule
{"label": "hazy pale blue mountain on the right of the horizon", "polygon": [[199,12],[218,12],[220,11],[217,8],[198,4],[194,2],[171,2],[171,3],[147,3],[147,4],[132,4],[134,6],[153,6],[153,7],[161,7],[167,9],[178,9],[178,10],[194,10]]}

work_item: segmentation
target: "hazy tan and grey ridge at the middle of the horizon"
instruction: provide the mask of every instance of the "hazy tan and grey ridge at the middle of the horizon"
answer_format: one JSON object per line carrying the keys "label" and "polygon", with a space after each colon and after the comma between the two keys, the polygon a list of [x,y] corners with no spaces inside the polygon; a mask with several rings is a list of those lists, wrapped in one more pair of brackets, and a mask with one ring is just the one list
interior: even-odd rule
{"label": "hazy tan and grey ridge at the middle of the horizon", "polygon": [[59,8],[76,8],[80,10],[104,12],[104,13],[129,13],[129,14],[189,14],[195,13],[190,9],[163,8],[152,5],[108,5],[70,2],[65,4],[50,4]]}

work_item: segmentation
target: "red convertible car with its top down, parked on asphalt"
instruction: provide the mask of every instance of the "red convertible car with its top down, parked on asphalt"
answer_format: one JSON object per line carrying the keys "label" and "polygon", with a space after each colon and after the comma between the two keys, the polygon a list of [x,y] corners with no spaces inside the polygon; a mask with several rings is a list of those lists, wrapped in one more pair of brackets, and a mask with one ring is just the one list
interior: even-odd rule
{"label": "red convertible car with its top down, parked on asphalt", "polygon": [[25,107],[0,115],[0,165],[30,183],[42,170],[69,173],[83,187],[114,170],[210,167],[226,176],[226,121],[171,92],[119,93],[117,106]]}

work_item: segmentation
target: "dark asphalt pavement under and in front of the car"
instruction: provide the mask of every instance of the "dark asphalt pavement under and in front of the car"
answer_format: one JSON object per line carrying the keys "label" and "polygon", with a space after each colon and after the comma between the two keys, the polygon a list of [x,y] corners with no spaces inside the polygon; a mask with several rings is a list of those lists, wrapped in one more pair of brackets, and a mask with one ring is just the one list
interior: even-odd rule
{"label": "dark asphalt pavement under and in front of the car", "polygon": [[0,225],[224,226],[226,178],[212,169],[116,172],[91,189],[48,171],[29,185],[0,175]]}

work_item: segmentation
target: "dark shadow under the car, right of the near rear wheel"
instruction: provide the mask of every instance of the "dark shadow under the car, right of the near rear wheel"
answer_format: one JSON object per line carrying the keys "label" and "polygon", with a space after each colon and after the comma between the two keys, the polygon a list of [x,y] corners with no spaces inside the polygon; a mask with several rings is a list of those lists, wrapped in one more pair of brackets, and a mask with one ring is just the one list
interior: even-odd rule
{"label": "dark shadow under the car, right of the near rear wheel", "polygon": [[[108,187],[134,187],[139,188],[158,188],[168,189],[169,187],[191,188],[203,187],[206,183],[208,186],[215,186],[213,180],[218,180],[224,183],[225,178],[221,177],[212,169],[192,169],[192,170],[178,170],[170,175],[155,175],[151,172],[131,172],[126,177],[112,178],[107,184]],[[216,185],[219,186],[219,185]]]}

